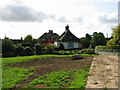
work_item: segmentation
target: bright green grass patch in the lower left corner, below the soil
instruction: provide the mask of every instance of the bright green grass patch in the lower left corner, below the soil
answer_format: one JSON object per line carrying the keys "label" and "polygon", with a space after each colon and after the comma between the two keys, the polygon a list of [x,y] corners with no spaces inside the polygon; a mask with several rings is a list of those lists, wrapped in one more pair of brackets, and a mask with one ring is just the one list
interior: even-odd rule
{"label": "bright green grass patch in the lower left corner, below the soil", "polygon": [[2,88],[12,88],[16,84],[25,80],[28,76],[32,75],[28,69],[22,68],[4,68],[2,71]]}

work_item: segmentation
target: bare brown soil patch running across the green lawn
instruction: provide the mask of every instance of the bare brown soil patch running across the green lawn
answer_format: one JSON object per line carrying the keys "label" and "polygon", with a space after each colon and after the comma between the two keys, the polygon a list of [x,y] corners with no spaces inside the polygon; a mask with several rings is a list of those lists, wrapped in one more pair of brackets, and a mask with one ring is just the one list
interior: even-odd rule
{"label": "bare brown soil patch running across the green lawn", "polygon": [[[33,67],[34,75],[29,77],[27,80],[23,81],[21,84],[18,84],[15,88],[22,88],[26,86],[29,82],[35,78],[49,74],[50,72],[59,71],[59,70],[80,70],[84,67],[91,65],[93,61],[92,56],[84,56],[80,60],[71,60],[71,57],[59,57],[59,58],[44,58],[44,59],[34,59],[31,61],[26,61],[17,64],[11,64],[11,67],[20,67],[20,68],[30,68]],[[42,86],[41,86],[42,87]]]}

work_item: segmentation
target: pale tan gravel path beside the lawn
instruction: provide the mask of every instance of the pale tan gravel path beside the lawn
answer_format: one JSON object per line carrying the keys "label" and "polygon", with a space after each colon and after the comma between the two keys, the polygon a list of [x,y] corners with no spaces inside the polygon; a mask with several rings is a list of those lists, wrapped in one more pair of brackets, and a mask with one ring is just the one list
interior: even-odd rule
{"label": "pale tan gravel path beside the lawn", "polygon": [[86,88],[118,88],[118,62],[116,55],[95,56]]}

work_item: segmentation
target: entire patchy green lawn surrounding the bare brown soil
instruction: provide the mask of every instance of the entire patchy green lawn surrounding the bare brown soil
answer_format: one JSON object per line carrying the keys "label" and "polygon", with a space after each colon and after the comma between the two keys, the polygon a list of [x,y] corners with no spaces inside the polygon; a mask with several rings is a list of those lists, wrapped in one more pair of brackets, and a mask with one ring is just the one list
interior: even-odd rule
{"label": "entire patchy green lawn surrounding the bare brown soil", "polygon": [[[2,87],[3,88],[16,87],[16,85],[21,84],[23,81],[27,80],[27,78],[30,77],[31,75],[36,75],[36,76],[39,76],[39,77],[43,76],[44,77],[44,75],[42,75],[42,74],[41,75],[36,74],[34,69],[39,69],[39,68],[36,68],[35,66],[30,66],[30,67],[27,67],[27,68],[26,67],[20,67],[20,66],[22,66],[22,63],[27,63],[27,62],[30,62],[30,61],[32,62],[33,60],[38,60],[39,61],[39,59],[44,60],[44,59],[55,58],[55,57],[56,58],[57,57],[60,57],[60,58],[68,57],[69,58],[71,56],[72,55],[34,55],[34,56],[2,58],[2,64],[3,64],[3,68],[2,68],[2,72],[3,72],[3,75],[2,75],[2,81],[3,81]],[[93,57],[94,55],[84,54],[83,56],[88,56],[88,57],[92,56]],[[75,61],[74,64],[78,63],[78,61]],[[18,66],[10,66],[10,65],[13,65],[13,64],[20,64],[20,66],[19,67]],[[59,65],[59,63],[58,63],[58,65]],[[58,66],[58,65],[56,65],[56,66]],[[87,65],[85,65],[85,66],[87,66]],[[49,65],[48,65],[48,67],[49,67]],[[65,68],[67,68],[67,67],[68,66],[66,66]],[[75,67],[75,66],[73,66],[73,67]],[[44,68],[42,67],[42,69],[44,69]],[[47,69],[43,70],[43,72],[44,72],[43,74],[45,74],[46,71],[47,71]],[[59,70],[59,69],[58,70],[53,70],[53,71],[50,71],[50,72],[46,73],[45,75],[48,76],[48,79],[42,80],[42,81],[46,82],[45,83],[45,85],[46,85],[46,84],[48,84],[47,82],[49,81],[49,78],[52,77],[52,76],[55,76],[55,77],[52,78],[53,80],[51,79],[50,82],[49,82],[50,87],[60,87],[60,86],[64,86],[64,84],[66,84],[67,85],[66,87],[71,87],[72,88],[72,87],[77,87],[80,83],[82,85],[80,87],[84,87],[84,85],[86,83],[86,78],[83,78],[83,77],[88,76],[88,71],[89,70],[87,70],[87,72],[84,72],[84,70],[83,71],[80,71],[80,70],[67,70],[67,69],[65,71],[64,70]],[[82,74],[80,75],[79,72],[82,72],[85,75],[83,75],[83,77],[82,77],[81,76]],[[77,78],[79,75],[81,77],[81,80],[84,82],[84,84],[83,84],[83,82],[79,82],[80,80],[79,80],[79,78]],[[64,80],[61,82],[58,79],[58,76],[61,77],[62,79],[64,78]],[[67,83],[68,78],[71,78],[71,80],[72,80],[71,83]],[[76,79],[72,79],[72,78],[76,78]],[[34,79],[37,80],[36,78],[34,78]],[[57,80],[56,82],[58,82],[56,84],[57,86],[54,85],[54,83],[52,82],[55,79]],[[31,83],[32,82],[35,82],[35,81],[33,80],[33,81],[31,81]],[[79,84],[74,85],[74,83],[76,83],[76,82],[79,82]],[[28,86],[29,86],[29,83],[28,83]]]}

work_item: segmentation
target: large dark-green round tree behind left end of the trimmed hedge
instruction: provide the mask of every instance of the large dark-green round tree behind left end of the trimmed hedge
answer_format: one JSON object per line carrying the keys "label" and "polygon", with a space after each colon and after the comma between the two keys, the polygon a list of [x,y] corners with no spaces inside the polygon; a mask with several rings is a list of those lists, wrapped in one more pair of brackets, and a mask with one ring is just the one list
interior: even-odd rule
{"label": "large dark-green round tree behind left end of the trimmed hedge", "polygon": [[93,37],[91,39],[91,45],[93,48],[97,45],[105,45],[106,44],[106,39],[103,33],[99,32],[94,32]]}

